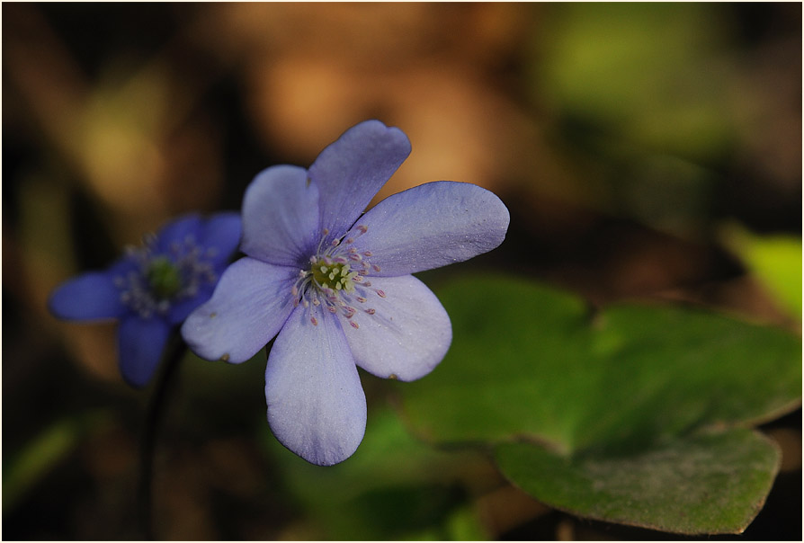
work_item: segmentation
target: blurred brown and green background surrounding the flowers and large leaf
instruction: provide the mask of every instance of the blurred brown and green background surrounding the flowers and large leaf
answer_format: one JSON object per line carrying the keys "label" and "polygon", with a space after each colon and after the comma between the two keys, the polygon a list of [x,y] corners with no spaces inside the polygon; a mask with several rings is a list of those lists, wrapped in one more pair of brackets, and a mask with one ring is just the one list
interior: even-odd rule
{"label": "blurred brown and green background surrounding the flowers and large leaf", "polygon": [[[800,267],[791,308],[741,258],[763,236],[800,249],[800,4],[4,3],[2,15],[4,539],[141,537],[152,390],[122,383],[113,325],[49,316],[50,289],[176,214],[239,209],[257,172],[309,165],[361,120],[413,145],[378,199],[446,179],[511,210],[505,244],[424,274],[434,287],[507,272],[594,304],[683,301],[800,334]],[[415,441],[416,469],[453,467],[425,474],[439,492],[350,492],[407,473],[381,454],[413,440],[398,388],[362,374],[370,428],[355,458],[368,459],[320,475],[273,440],[263,373],[259,360],[184,361],[159,434],[158,538],[671,537],[550,510],[482,454]],[[782,471],[743,539],[800,539],[800,429],[800,410],[764,428]]]}

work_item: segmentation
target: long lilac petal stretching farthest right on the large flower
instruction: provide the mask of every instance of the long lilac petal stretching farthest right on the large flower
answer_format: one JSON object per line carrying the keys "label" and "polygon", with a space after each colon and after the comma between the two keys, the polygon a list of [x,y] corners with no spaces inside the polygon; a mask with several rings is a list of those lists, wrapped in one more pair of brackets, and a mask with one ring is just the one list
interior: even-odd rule
{"label": "long lilac petal stretching farthest right on the large flower", "polygon": [[428,182],[398,192],[358,222],[354,241],[371,252],[372,275],[422,272],[468,260],[503,243],[508,209],[496,195],[468,182]]}

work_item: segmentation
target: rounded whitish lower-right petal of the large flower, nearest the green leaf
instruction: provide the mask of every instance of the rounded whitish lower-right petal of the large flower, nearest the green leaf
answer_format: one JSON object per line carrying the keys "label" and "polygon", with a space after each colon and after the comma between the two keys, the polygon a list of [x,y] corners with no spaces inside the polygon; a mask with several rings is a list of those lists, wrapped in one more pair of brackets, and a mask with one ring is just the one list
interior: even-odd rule
{"label": "rounded whitish lower-right petal of the large flower, nearest the green leaf", "polygon": [[[384,298],[372,289],[381,290]],[[364,290],[367,299],[352,317],[359,328],[344,326],[357,365],[403,381],[430,373],[452,341],[450,317],[433,291],[412,275],[373,277],[371,288]]]}

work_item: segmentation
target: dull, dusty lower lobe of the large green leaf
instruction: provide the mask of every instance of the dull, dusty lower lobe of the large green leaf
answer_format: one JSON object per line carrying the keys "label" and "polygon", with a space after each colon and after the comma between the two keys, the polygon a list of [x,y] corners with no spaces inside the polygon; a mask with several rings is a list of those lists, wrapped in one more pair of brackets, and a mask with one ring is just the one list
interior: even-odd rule
{"label": "dull, dusty lower lobe of the large green leaf", "polygon": [[779,468],[772,441],[750,430],[690,436],[626,457],[567,458],[527,443],[496,450],[505,476],[552,507],[683,534],[740,533]]}

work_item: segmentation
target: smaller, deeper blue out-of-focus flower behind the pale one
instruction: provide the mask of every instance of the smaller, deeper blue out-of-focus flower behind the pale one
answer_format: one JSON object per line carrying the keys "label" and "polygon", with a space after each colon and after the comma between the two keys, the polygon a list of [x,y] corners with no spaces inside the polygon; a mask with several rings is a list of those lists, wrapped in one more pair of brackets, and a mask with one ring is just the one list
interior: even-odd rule
{"label": "smaller, deeper blue out-of-focus flower behind the pale one", "polygon": [[109,269],[60,285],[50,295],[50,312],[67,320],[120,320],[121,374],[132,387],[145,387],[174,327],[212,295],[240,234],[237,213],[178,218]]}

